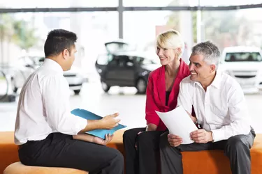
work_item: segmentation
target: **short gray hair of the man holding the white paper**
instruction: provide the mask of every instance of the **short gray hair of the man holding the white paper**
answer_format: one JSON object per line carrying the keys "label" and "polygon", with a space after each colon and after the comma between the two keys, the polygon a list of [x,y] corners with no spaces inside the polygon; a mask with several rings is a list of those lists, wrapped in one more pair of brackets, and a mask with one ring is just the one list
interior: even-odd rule
{"label": "short gray hair of the man holding the white paper", "polygon": [[204,56],[205,63],[216,65],[216,70],[219,66],[220,51],[217,45],[211,41],[198,43],[192,48],[192,56],[201,54]]}

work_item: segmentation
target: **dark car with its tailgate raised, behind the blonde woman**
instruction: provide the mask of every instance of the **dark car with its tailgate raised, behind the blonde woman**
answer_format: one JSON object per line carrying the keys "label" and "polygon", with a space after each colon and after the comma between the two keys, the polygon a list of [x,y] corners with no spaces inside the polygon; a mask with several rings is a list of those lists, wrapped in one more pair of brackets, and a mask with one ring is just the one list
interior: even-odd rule
{"label": "dark car with its tailgate raised, behind the blonde woman", "polygon": [[[109,51],[111,44],[121,47]],[[126,47],[123,50],[122,46]],[[101,85],[105,92],[111,86],[134,86],[138,93],[145,93],[148,75],[159,67],[151,58],[137,51],[129,51],[124,42],[105,43],[107,54],[101,54],[96,61],[96,70],[101,77]]]}

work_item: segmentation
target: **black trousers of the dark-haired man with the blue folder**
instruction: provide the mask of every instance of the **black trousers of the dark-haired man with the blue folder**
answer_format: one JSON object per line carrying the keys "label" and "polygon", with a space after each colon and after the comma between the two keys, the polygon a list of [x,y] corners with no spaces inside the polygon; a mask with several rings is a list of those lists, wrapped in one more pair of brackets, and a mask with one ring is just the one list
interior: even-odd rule
{"label": "black trousers of the dark-haired man with the blue folder", "polygon": [[113,148],[52,133],[41,141],[27,141],[18,150],[22,164],[77,168],[90,174],[124,174],[124,158]]}

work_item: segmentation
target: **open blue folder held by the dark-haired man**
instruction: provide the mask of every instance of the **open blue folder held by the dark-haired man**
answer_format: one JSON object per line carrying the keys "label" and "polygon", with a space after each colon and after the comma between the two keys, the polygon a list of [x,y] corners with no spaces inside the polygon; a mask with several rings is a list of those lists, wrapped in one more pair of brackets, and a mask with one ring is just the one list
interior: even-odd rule
{"label": "open blue folder held by the dark-haired man", "polygon": [[[94,114],[90,111],[87,111],[85,109],[74,109],[73,111],[71,111],[71,113],[75,116],[79,116],[79,117],[85,118],[87,120],[100,120],[100,119],[103,118],[103,117],[97,116],[96,114]],[[85,132],[85,133],[91,134],[93,136],[98,136],[101,139],[105,139],[105,134],[112,135],[112,134],[114,134],[115,131],[117,131],[118,129],[122,129],[124,127],[126,127],[126,126],[118,124],[118,126],[112,128],[112,129],[109,129],[109,130],[108,129],[95,129],[95,130]]]}

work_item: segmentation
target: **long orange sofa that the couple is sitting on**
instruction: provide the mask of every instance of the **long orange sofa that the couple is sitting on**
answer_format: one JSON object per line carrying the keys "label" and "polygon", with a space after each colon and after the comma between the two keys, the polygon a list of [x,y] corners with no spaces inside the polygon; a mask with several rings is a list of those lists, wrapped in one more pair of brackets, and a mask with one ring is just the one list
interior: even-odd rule
{"label": "long orange sofa that the couple is sitting on", "polygon": [[[122,135],[124,130],[115,133],[114,139],[108,144],[117,148],[124,155]],[[184,174],[230,174],[229,160],[221,150],[201,152],[182,152]],[[252,174],[262,174],[262,134],[257,134],[251,149]],[[17,145],[13,143],[13,132],[0,132],[0,174],[14,162],[19,161]]]}

